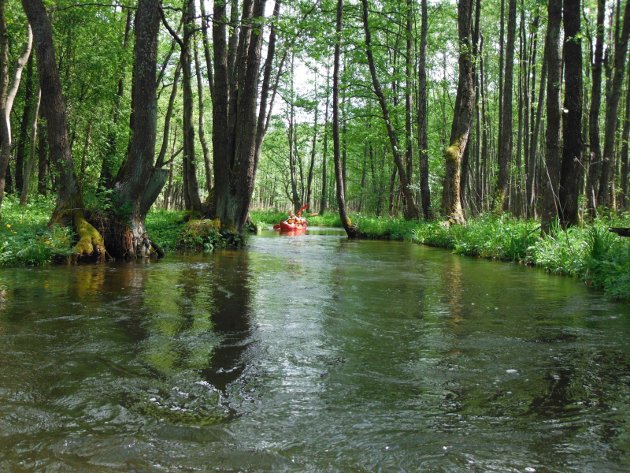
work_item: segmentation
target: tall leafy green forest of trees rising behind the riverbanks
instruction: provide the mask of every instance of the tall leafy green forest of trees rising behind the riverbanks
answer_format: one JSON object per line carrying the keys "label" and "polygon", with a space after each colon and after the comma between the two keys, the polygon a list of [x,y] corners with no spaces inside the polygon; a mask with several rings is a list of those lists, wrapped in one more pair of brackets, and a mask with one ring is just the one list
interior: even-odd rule
{"label": "tall leafy green forest of trees rising behind the riverbanks", "polygon": [[629,226],[628,2],[2,0],[0,14],[0,206],[23,220],[47,203],[75,257],[162,252],[146,224],[160,211],[228,243],[252,213],[303,205],[349,236],[378,236],[368,217],[460,233],[509,220],[525,253],[530,236]]}

